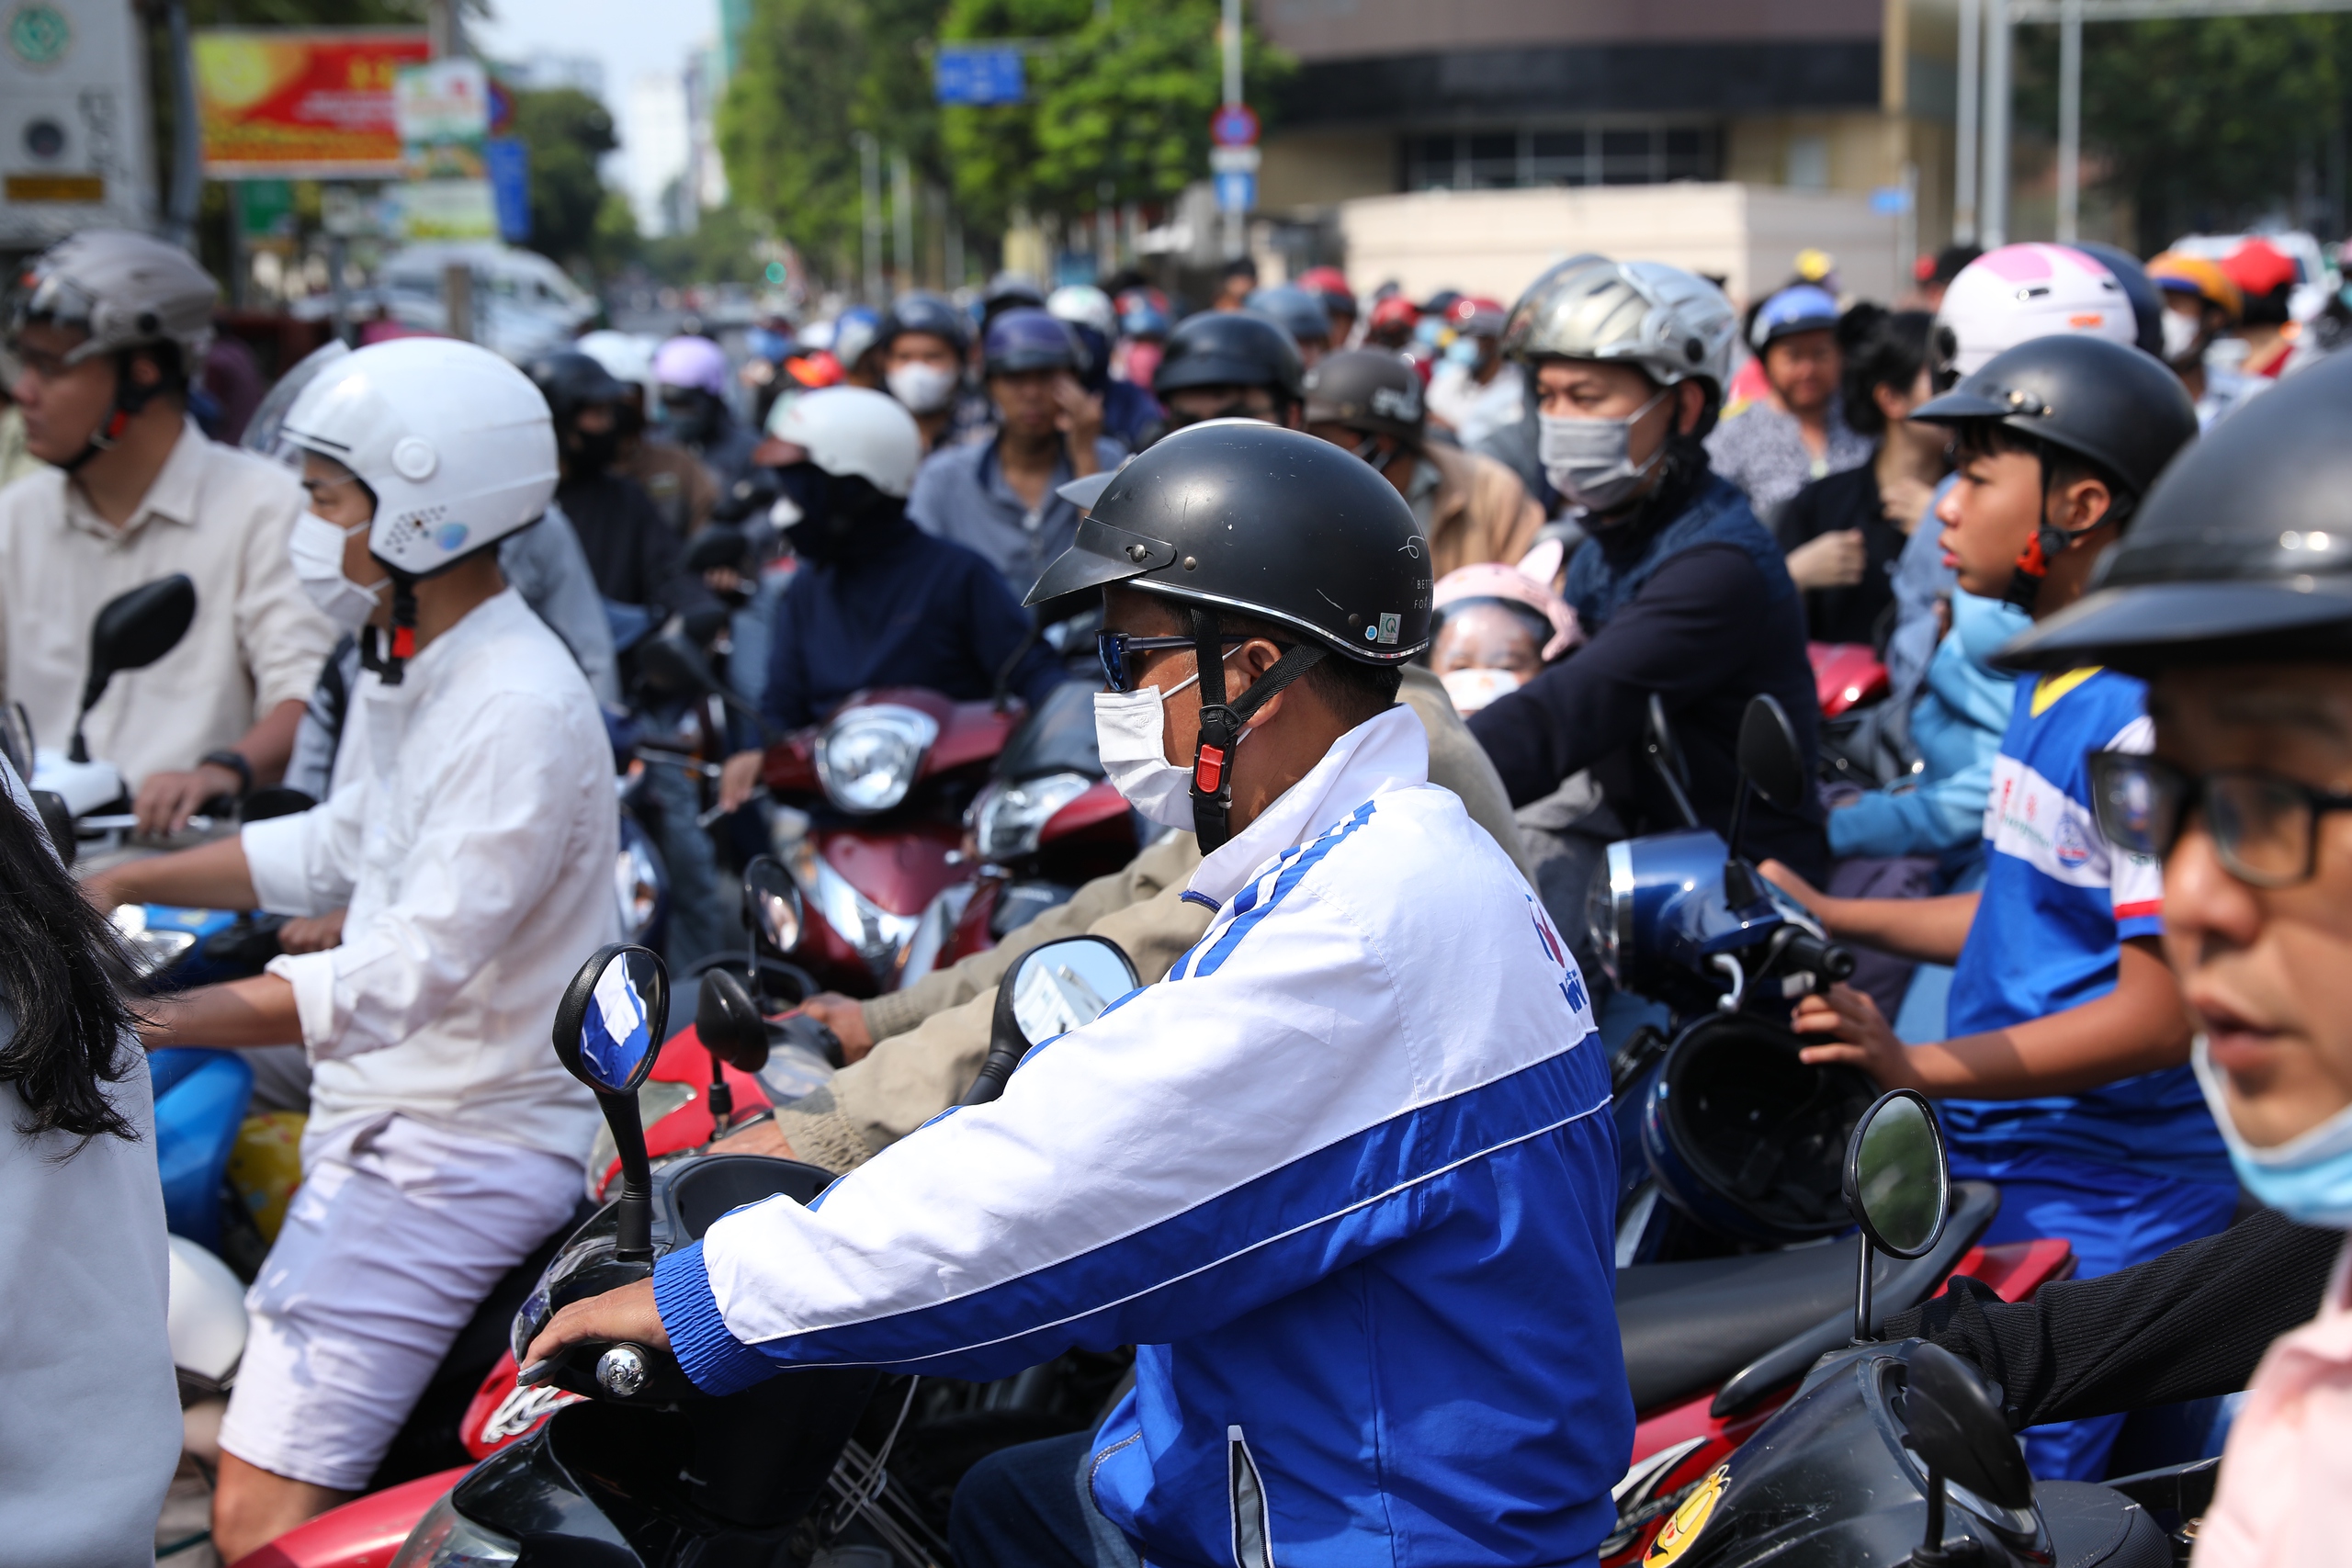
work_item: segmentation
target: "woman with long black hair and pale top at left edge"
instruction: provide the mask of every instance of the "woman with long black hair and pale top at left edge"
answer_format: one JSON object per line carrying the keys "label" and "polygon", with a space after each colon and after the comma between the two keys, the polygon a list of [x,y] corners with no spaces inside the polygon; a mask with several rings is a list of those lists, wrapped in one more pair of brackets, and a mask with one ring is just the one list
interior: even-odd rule
{"label": "woman with long black hair and pale top at left edge", "polygon": [[113,929],[0,757],[0,1556],[155,1556],[179,1465],[155,1103]]}

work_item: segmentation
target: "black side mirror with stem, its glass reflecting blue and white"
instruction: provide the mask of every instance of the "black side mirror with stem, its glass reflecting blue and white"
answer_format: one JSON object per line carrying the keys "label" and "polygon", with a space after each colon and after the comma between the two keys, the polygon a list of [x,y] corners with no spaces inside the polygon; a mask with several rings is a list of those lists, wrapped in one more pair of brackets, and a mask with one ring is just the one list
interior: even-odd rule
{"label": "black side mirror with stem, its glass reflecting blue and white", "polygon": [[621,1204],[614,1258],[654,1260],[654,1166],[644,1154],[637,1086],[661,1056],[661,1020],[670,1013],[670,971],[649,947],[597,947],[555,1004],[555,1060],[595,1091],[621,1154]]}

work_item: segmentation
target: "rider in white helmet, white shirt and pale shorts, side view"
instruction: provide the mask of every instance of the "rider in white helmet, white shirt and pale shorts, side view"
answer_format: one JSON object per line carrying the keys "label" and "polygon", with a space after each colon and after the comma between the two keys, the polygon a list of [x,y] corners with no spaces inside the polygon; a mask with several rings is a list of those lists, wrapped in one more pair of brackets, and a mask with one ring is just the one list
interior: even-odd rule
{"label": "rider in white helmet, white shirt and pale shorts, side view", "polygon": [[470,343],[348,355],[285,418],[303,592],[362,639],[334,795],[92,877],[106,905],[322,914],[339,947],[151,1009],[148,1046],[310,1056],[287,1211],[221,1425],[212,1537],[238,1559],[362,1490],[456,1331],[579,1201],[597,1114],[546,1018],[619,940],[612,743],[499,571],[555,491],[539,390]]}

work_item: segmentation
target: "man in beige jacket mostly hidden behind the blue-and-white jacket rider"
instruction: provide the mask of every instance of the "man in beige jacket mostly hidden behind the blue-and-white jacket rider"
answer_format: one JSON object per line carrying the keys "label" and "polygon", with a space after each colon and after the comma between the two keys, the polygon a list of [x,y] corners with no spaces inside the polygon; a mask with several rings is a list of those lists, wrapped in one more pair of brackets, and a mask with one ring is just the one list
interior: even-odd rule
{"label": "man in beige jacket mostly hidden behind the blue-and-white jacket rider", "polygon": [[[1503,780],[1454,712],[1446,689],[1421,665],[1404,665],[1404,689],[1397,696],[1430,733],[1430,783],[1454,790],[1470,820],[1494,835],[1534,886]],[[1209,929],[1211,910],[1181,898],[1197,867],[1200,842],[1190,832],[1169,830],[1122,870],[1096,877],[1070,903],[1018,926],[988,952],[870,1001],[811,997],[802,1011],[842,1037],[849,1065],[816,1093],[779,1110],[771,1124],[760,1121],[724,1147],[788,1154],[828,1171],[863,1164],[955,1105],[971,1086],[988,1056],[997,980],[1030,947],[1082,931],[1108,936],[1127,950],[1145,983],[1167,978],[1185,947]]]}

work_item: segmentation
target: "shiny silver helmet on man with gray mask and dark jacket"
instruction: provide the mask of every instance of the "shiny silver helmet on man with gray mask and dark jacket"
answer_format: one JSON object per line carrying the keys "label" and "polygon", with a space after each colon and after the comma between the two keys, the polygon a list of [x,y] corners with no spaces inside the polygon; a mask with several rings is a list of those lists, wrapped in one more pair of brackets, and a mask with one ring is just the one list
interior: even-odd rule
{"label": "shiny silver helmet on man with gray mask and dark jacket", "polygon": [[1632,364],[1658,386],[1696,378],[1722,404],[1738,336],[1738,313],[1705,277],[1663,261],[1585,254],[1529,284],[1503,324],[1503,353],[1526,364]]}

